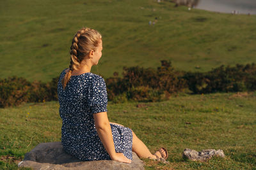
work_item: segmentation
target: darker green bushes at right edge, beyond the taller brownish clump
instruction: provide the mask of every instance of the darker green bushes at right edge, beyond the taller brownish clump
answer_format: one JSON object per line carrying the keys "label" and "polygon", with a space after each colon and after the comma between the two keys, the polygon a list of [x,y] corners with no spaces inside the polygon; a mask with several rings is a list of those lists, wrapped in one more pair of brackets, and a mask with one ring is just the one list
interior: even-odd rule
{"label": "darker green bushes at right edge, beyond the taller brownish clump", "polygon": [[256,66],[237,64],[234,67],[220,66],[207,73],[184,74],[189,90],[194,94],[212,92],[242,92],[256,90]]}

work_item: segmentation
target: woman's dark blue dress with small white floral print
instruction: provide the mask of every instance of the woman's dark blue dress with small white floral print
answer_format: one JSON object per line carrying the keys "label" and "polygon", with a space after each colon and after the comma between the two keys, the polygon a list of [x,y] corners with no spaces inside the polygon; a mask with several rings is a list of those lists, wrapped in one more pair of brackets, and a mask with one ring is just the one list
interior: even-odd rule
{"label": "woman's dark blue dress with small white floral print", "polygon": [[[71,76],[65,89],[58,81],[58,100],[62,119],[61,143],[65,152],[80,160],[110,160],[97,134],[93,113],[108,111],[104,79],[93,73]],[[115,150],[132,160],[132,131],[110,124]]]}

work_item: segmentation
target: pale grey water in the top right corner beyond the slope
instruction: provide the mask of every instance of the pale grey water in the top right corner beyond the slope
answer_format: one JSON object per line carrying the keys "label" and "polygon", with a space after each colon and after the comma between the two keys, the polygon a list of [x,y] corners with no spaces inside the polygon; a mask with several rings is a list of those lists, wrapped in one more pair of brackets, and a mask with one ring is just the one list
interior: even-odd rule
{"label": "pale grey water in the top right corner beyond the slope", "polygon": [[195,8],[223,13],[256,15],[256,0],[200,0]]}

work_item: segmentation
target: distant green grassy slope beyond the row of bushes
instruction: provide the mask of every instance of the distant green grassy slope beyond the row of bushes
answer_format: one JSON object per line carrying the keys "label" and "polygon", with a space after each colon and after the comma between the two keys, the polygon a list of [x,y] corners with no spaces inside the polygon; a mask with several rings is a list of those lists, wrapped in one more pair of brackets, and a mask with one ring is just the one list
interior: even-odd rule
{"label": "distant green grassy slope beyond the row of bushes", "polygon": [[[124,66],[157,67],[162,59],[185,71],[256,62],[256,15],[173,6],[154,0],[0,1],[0,78],[59,76],[83,26],[102,33],[102,59],[92,71],[105,78]],[[156,25],[148,25],[155,17]]]}

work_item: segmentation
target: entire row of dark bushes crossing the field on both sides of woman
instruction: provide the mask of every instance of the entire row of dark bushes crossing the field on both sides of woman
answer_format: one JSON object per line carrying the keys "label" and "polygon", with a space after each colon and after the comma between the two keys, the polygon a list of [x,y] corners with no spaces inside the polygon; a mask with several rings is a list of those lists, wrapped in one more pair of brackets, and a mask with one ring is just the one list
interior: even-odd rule
{"label": "entire row of dark bushes crossing the field on both sides of woman", "polygon": [[[170,61],[161,60],[157,69],[124,67],[106,79],[108,99],[115,103],[131,101],[154,102],[168,99],[173,93],[191,90],[194,94],[242,92],[256,90],[256,65],[220,66],[205,73],[175,71]],[[0,80],[0,107],[18,106],[27,102],[57,101],[58,78],[48,83],[30,83],[17,76]]]}

